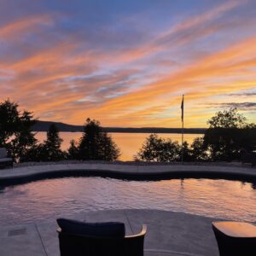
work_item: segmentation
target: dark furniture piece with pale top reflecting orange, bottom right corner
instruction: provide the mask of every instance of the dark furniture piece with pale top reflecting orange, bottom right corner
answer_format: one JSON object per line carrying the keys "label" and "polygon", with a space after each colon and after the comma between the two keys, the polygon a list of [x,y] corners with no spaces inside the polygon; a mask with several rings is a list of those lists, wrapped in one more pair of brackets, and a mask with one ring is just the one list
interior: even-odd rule
{"label": "dark furniture piece with pale top reflecting orange, bottom right corner", "polygon": [[242,222],[213,222],[220,256],[255,256],[256,226]]}

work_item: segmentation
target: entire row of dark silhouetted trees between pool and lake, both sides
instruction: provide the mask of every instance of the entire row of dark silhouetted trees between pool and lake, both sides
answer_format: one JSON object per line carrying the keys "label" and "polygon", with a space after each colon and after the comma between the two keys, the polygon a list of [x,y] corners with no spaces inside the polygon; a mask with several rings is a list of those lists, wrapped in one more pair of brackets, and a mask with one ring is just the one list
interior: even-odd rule
{"label": "entire row of dark silhouetted trees between pool and lake, both sides", "polygon": [[[39,143],[32,131],[37,120],[31,112],[18,108],[15,102],[0,102],[0,148],[7,148],[15,161],[118,160],[120,149],[99,121],[86,119],[82,137],[72,140],[63,151],[55,125],[49,126],[46,140]],[[204,136],[196,137],[190,145],[151,134],[134,160],[171,162],[182,160],[183,155],[184,161],[231,161],[240,160],[242,152],[255,151],[256,125],[247,123],[236,108],[219,111],[207,124]]]}

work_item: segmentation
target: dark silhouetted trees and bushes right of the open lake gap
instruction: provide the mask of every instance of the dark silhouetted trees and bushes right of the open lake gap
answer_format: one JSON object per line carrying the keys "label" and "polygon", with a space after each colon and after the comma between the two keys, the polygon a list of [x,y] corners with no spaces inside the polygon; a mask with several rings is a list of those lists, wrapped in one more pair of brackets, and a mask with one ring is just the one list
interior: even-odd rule
{"label": "dark silhouetted trees and bushes right of the open lake gap", "polygon": [[146,161],[232,161],[241,160],[241,154],[256,151],[256,125],[238,113],[236,108],[219,111],[207,121],[209,128],[203,137],[196,137],[189,145],[163,139],[156,134],[146,138],[135,155]]}

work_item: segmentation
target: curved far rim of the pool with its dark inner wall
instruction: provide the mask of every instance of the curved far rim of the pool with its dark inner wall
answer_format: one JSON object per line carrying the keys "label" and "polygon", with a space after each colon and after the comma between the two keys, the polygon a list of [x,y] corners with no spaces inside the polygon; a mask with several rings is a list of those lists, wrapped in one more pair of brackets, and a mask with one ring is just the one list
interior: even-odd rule
{"label": "curved far rim of the pool with its dark inner wall", "polygon": [[131,180],[167,178],[224,178],[256,181],[256,169],[240,166],[116,165],[112,163],[55,164],[23,166],[0,170],[0,185],[28,183],[55,177],[114,177]]}

